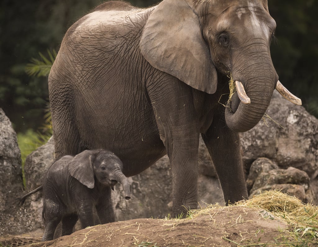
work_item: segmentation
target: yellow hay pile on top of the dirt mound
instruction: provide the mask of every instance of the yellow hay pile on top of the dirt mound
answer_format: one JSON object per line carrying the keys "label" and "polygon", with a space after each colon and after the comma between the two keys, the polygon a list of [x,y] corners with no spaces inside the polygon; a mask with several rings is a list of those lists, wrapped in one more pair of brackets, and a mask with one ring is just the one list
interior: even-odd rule
{"label": "yellow hay pile on top of the dirt mound", "polygon": [[[297,243],[317,243],[318,246],[318,206],[304,204],[298,198],[288,196],[279,190],[264,191],[247,201],[237,202],[228,207],[232,206],[261,209],[264,215],[279,218],[291,226],[282,234],[283,239],[294,239]],[[222,207],[211,204],[204,209],[191,211],[188,217],[194,218],[216,208]]]}

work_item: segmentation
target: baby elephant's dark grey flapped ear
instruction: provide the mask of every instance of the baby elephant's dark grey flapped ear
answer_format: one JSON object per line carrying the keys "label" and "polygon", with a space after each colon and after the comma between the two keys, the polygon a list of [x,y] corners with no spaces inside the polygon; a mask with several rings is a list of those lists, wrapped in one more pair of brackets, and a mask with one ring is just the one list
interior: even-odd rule
{"label": "baby elephant's dark grey flapped ear", "polygon": [[96,155],[96,150],[85,150],[77,154],[68,164],[68,171],[71,176],[90,189],[94,188],[94,170],[92,159]]}

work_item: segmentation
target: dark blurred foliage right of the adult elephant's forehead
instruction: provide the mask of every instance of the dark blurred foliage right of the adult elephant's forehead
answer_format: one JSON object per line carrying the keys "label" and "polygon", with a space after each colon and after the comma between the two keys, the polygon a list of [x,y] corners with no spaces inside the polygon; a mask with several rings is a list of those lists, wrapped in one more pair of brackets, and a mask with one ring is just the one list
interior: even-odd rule
{"label": "dark blurred foliage right of the adult elephant's forehead", "polygon": [[318,117],[318,1],[268,0],[268,7],[277,24],[271,53],[280,81]]}

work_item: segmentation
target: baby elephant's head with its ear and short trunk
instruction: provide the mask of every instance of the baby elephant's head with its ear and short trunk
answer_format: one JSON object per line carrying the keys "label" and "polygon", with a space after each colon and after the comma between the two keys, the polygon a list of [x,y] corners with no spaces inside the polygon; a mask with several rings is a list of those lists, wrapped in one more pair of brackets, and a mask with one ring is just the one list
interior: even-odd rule
{"label": "baby elephant's head with its ear and short trunk", "polygon": [[120,182],[124,188],[125,199],[130,199],[130,184],[122,173],[122,162],[113,153],[105,150],[85,150],[70,161],[68,170],[72,177],[86,187],[93,189],[95,177],[105,186],[113,186]]}

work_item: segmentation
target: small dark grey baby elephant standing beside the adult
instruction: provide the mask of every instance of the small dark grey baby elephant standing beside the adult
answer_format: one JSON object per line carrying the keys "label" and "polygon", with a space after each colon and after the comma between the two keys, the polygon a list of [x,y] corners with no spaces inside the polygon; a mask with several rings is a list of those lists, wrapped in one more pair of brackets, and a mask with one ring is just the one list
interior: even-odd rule
{"label": "small dark grey baby elephant standing beside the adult", "polygon": [[60,221],[62,236],[73,232],[78,219],[82,228],[93,226],[93,206],[96,207],[101,224],[114,222],[110,189],[120,182],[126,200],[130,199],[130,185],[122,173],[122,167],[121,160],[105,150],[86,150],[54,162],[43,185],[20,198],[22,205],[27,197],[43,189],[45,230],[42,241],[53,239]]}

